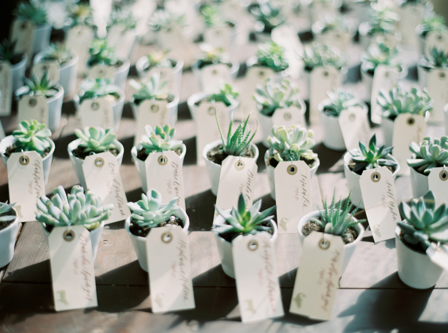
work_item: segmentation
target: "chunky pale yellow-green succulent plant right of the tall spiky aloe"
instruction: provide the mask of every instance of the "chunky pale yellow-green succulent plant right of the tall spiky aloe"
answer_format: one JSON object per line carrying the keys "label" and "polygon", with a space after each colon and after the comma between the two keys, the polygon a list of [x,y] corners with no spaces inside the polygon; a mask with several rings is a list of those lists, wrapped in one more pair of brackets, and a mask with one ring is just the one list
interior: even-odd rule
{"label": "chunky pale yellow-green succulent plant right of the tall spiky aloe", "polygon": [[312,150],[315,145],[312,130],[300,125],[274,126],[271,133],[267,142],[277,162],[317,159],[317,154]]}

